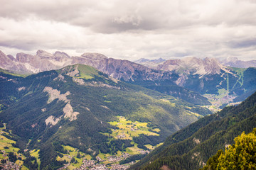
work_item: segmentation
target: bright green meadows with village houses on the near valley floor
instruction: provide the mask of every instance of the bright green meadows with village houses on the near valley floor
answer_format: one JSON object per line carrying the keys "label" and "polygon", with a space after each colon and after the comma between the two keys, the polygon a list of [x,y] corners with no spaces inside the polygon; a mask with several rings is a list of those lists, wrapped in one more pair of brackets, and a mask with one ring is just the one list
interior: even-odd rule
{"label": "bright green meadows with village houses on the near valley floor", "polygon": [[[116,129],[112,129],[111,135],[112,139],[114,140],[131,140],[132,137],[138,137],[140,134],[144,135],[159,135],[157,132],[160,130],[158,128],[150,129],[148,127],[148,123],[140,123],[140,122],[132,122],[127,120],[123,116],[117,116],[117,121],[109,122],[111,125],[116,126]],[[18,148],[14,147],[13,145],[16,143],[14,140],[8,139],[8,135],[11,136],[11,132],[5,130],[6,125],[4,128],[1,128],[0,134],[0,159],[1,159],[1,168],[2,169],[28,169],[26,166],[23,165],[24,159],[26,157],[18,153]],[[5,134],[5,135],[4,135]],[[132,160],[131,162],[126,162],[122,164],[121,162],[125,159],[132,157],[133,155],[146,155],[149,154],[151,149],[154,149],[157,146],[145,145],[148,149],[141,149],[138,147],[138,144],[134,141],[131,142],[132,147],[127,147],[123,151],[118,151],[116,154],[103,154],[99,153],[95,159],[92,159],[90,154],[85,154],[80,152],[80,150],[70,147],[68,145],[63,145],[63,148],[67,151],[66,154],[61,154],[62,156],[58,156],[58,161],[67,162],[63,167],[58,170],[62,169],[128,169],[129,166],[134,164],[136,160]],[[9,160],[9,152],[14,152],[14,156],[17,158],[15,162],[11,162]],[[39,157],[39,150],[33,149],[28,150],[32,157],[36,158],[39,166],[41,164],[40,157]],[[79,156],[78,156],[79,155]]]}

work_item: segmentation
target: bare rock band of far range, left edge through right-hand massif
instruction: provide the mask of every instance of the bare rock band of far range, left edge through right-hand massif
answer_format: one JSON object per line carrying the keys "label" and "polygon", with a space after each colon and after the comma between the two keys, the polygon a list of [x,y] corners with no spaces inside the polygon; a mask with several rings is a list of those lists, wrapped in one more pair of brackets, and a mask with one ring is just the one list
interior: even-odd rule
{"label": "bare rock band of far range, left edge through right-hand massif", "polygon": [[204,60],[189,57],[182,60],[161,60],[156,69],[128,60],[115,60],[98,53],[84,53],[81,56],[70,57],[65,52],[49,52],[38,50],[36,55],[18,53],[16,58],[7,57],[1,52],[0,67],[15,72],[37,73],[53,69],[60,69],[71,64],[86,64],[104,72],[105,74],[124,81],[174,81],[183,86],[188,75],[199,75],[200,78],[208,74],[228,72],[217,60]]}

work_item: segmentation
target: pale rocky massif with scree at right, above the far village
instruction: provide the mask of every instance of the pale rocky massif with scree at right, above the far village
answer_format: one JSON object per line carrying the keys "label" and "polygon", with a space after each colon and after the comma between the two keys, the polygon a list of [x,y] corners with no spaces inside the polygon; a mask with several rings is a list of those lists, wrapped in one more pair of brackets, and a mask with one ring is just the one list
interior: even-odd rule
{"label": "pale rocky massif with scree at right, above the far village", "polygon": [[[157,69],[175,72],[178,74],[178,79],[175,81],[178,86],[184,86],[188,89],[192,89],[191,86],[198,86],[199,89],[196,91],[203,89],[203,81],[213,81],[213,78],[211,78],[213,75],[222,77],[221,74],[230,73],[227,67],[220,64],[214,58],[205,58],[202,60],[196,57],[188,57],[182,60],[167,60],[163,64],[159,64]],[[198,81],[201,83],[195,83],[193,77],[199,79]],[[218,86],[218,84],[214,86]]]}

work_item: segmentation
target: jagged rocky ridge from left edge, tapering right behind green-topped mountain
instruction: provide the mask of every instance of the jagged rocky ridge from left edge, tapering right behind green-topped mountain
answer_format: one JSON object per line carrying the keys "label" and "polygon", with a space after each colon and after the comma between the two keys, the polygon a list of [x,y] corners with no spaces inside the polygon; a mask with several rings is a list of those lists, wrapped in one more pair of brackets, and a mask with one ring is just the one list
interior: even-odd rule
{"label": "jagged rocky ridge from left edge, tapering right behind green-topped mountain", "polygon": [[[60,69],[71,64],[86,64],[115,79],[122,79],[124,81],[173,79],[174,77],[171,72],[157,71],[127,60],[114,60],[98,53],[84,53],[80,57],[70,57],[65,52],[50,54],[49,52],[38,50],[36,55],[18,53],[16,59],[14,57],[6,57],[3,52],[1,55],[4,56],[4,62],[9,62],[7,65],[21,64],[20,67],[23,67],[23,72],[27,73]],[[16,64],[14,64],[14,61],[16,61]],[[3,65],[4,63],[0,67],[6,69],[7,67],[3,67]],[[18,72],[21,69],[11,67],[11,70]]]}

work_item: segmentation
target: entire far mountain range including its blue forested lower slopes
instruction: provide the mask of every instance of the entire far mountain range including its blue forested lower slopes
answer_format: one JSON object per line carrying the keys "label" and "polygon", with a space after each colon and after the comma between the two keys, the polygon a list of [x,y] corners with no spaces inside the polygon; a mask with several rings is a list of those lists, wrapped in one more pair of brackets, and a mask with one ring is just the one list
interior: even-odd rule
{"label": "entire far mountain range including its blue forested lower slopes", "polygon": [[[217,108],[223,104],[243,101],[255,91],[254,68],[225,67],[213,58],[140,61],[154,62],[157,67],[152,69],[97,53],[70,57],[65,52],[50,54],[38,50],[36,55],[18,53],[13,57],[0,52],[0,67],[12,72],[31,74],[60,69],[71,64],[86,64],[115,79],[169,94],[193,104],[210,105],[215,103],[214,98],[218,98]],[[223,95],[225,100],[220,100]]]}

